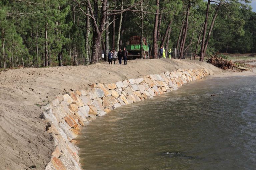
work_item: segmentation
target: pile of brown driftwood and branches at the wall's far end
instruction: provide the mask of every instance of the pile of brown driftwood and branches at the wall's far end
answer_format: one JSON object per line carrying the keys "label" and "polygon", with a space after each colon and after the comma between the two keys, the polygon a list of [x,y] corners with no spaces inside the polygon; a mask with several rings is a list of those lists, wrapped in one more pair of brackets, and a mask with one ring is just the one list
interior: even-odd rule
{"label": "pile of brown driftwood and branches at the wall's far end", "polygon": [[208,63],[219,67],[221,69],[229,69],[229,68],[234,68],[236,65],[232,63],[231,60],[228,61],[228,59],[223,59],[221,56],[218,57],[217,54],[214,56],[211,56],[211,58],[206,60]]}

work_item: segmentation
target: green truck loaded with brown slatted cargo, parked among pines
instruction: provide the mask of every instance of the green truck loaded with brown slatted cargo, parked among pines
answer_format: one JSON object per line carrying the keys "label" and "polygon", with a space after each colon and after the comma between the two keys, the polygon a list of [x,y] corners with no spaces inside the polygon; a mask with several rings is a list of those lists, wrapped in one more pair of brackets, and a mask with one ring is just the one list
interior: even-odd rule
{"label": "green truck loaded with brown slatted cargo, parked among pines", "polygon": [[[128,51],[127,59],[140,58],[140,36],[133,36],[130,41],[126,44]],[[147,39],[143,38],[143,58],[149,58],[149,47]]]}

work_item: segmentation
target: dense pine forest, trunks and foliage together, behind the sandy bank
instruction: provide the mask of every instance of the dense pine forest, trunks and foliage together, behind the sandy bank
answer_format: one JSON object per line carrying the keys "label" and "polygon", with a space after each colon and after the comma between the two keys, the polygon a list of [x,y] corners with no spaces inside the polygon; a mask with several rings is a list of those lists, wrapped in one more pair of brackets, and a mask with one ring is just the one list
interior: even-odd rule
{"label": "dense pine forest, trunks and foliage together, behind the sandy bank", "polygon": [[189,48],[201,60],[217,51],[254,53],[256,13],[248,2],[2,0],[0,67],[95,63],[131,36],[146,37],[152,57],[160,45],[180,56]]}

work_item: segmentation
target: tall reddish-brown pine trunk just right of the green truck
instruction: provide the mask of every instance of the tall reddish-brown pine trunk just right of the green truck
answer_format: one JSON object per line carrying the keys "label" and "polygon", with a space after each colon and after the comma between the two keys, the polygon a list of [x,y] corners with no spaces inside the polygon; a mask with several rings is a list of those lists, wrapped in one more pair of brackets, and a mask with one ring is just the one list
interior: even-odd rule
{"label": "tall reddish-brown pine trunk just right of the green truck", "polygon": [[153,54],[153,57],[156,58],[157,57],[157,28],[158,28],[158,19],[159,19],[159,0],[156,0],[156,14],[155,14],[155,23],[154,23],[154,30],[153,30],[153,52],[151,52],[151,54]]}

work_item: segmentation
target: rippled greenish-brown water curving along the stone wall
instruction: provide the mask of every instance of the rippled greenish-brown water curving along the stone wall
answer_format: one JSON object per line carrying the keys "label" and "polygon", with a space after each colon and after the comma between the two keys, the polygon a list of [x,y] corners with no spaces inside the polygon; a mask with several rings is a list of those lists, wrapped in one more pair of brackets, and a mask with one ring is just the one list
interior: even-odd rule
{"label": "rippled greenish-brown water curving along the stone wall", "polygon": [[191,82],[89,123],[80,162],[85,170],[254,170],[255,105],[256,76]]}

